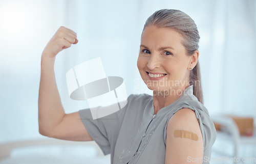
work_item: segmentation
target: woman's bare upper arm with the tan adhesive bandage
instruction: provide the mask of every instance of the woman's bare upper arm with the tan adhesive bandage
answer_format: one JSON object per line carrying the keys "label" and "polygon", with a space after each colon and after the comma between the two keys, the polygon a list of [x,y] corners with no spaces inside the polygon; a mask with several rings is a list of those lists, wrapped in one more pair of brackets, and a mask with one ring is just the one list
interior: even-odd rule
{"label": "woman's bare upper arm with the tan adhesive bandage", "polygon": [[189,108],[169,119],[166,131],[165,164],[202,163],[203,138],[196,114]]}

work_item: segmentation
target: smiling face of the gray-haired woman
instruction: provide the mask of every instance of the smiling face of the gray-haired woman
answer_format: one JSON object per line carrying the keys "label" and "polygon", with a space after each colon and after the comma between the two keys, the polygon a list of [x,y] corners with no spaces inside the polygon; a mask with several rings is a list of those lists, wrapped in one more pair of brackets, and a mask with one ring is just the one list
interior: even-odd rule
{"label": "smiling face of the gray-haired woman", "polygon": [[191,56],[187,56],[181,41],[175,29],[155,25],[144,29],[137,67],[149,89],[174,91],[188,85]]}

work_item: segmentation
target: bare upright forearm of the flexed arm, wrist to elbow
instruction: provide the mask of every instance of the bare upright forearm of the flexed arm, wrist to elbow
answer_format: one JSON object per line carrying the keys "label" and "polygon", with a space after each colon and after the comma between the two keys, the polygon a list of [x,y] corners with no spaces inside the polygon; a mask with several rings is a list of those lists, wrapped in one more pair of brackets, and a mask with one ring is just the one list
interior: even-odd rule
{"label": "bare upright forearm of the flexed arm, wrist to elbow", "polygon": [[39,132],[43,135],[49,135],[65,116],[55,81],[54,61],[55,58],[42,54],[38,96],[38,123]]}

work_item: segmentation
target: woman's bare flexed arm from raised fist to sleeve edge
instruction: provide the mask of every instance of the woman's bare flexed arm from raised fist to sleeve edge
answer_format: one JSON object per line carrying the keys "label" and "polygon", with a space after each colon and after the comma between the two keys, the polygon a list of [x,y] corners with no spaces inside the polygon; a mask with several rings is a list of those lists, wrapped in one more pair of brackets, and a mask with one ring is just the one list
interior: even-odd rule
{"label": "woman's bare flexed arm from raised fist to sleeve edge", "polygon": [[42,52],[38,97],[39,133],[63,140],[91,141],[79,113],[65,114],[54,74],[54,61],[58,52],[77,42],[76,33],[61,26]]}

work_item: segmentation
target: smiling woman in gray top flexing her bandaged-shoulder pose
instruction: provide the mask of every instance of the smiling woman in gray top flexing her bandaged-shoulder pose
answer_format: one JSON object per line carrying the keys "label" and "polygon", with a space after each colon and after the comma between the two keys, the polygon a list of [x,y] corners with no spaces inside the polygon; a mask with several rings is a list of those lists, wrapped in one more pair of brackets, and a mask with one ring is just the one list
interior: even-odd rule
{"label": "smiling woman in gray top flexing her bandaged-shoulder pose", "polygon": [[141,36],[137,66],[150,95],[131,95],[118,112],[92,119],[90,110],[65,114],[54,77],[56,54],[76,44],[61,27],[42,53],[39,132],[52,138],[94,140],[111,163],[209,163],[214,124],[201,103],[199,34],[179,10],[150,16]]}

